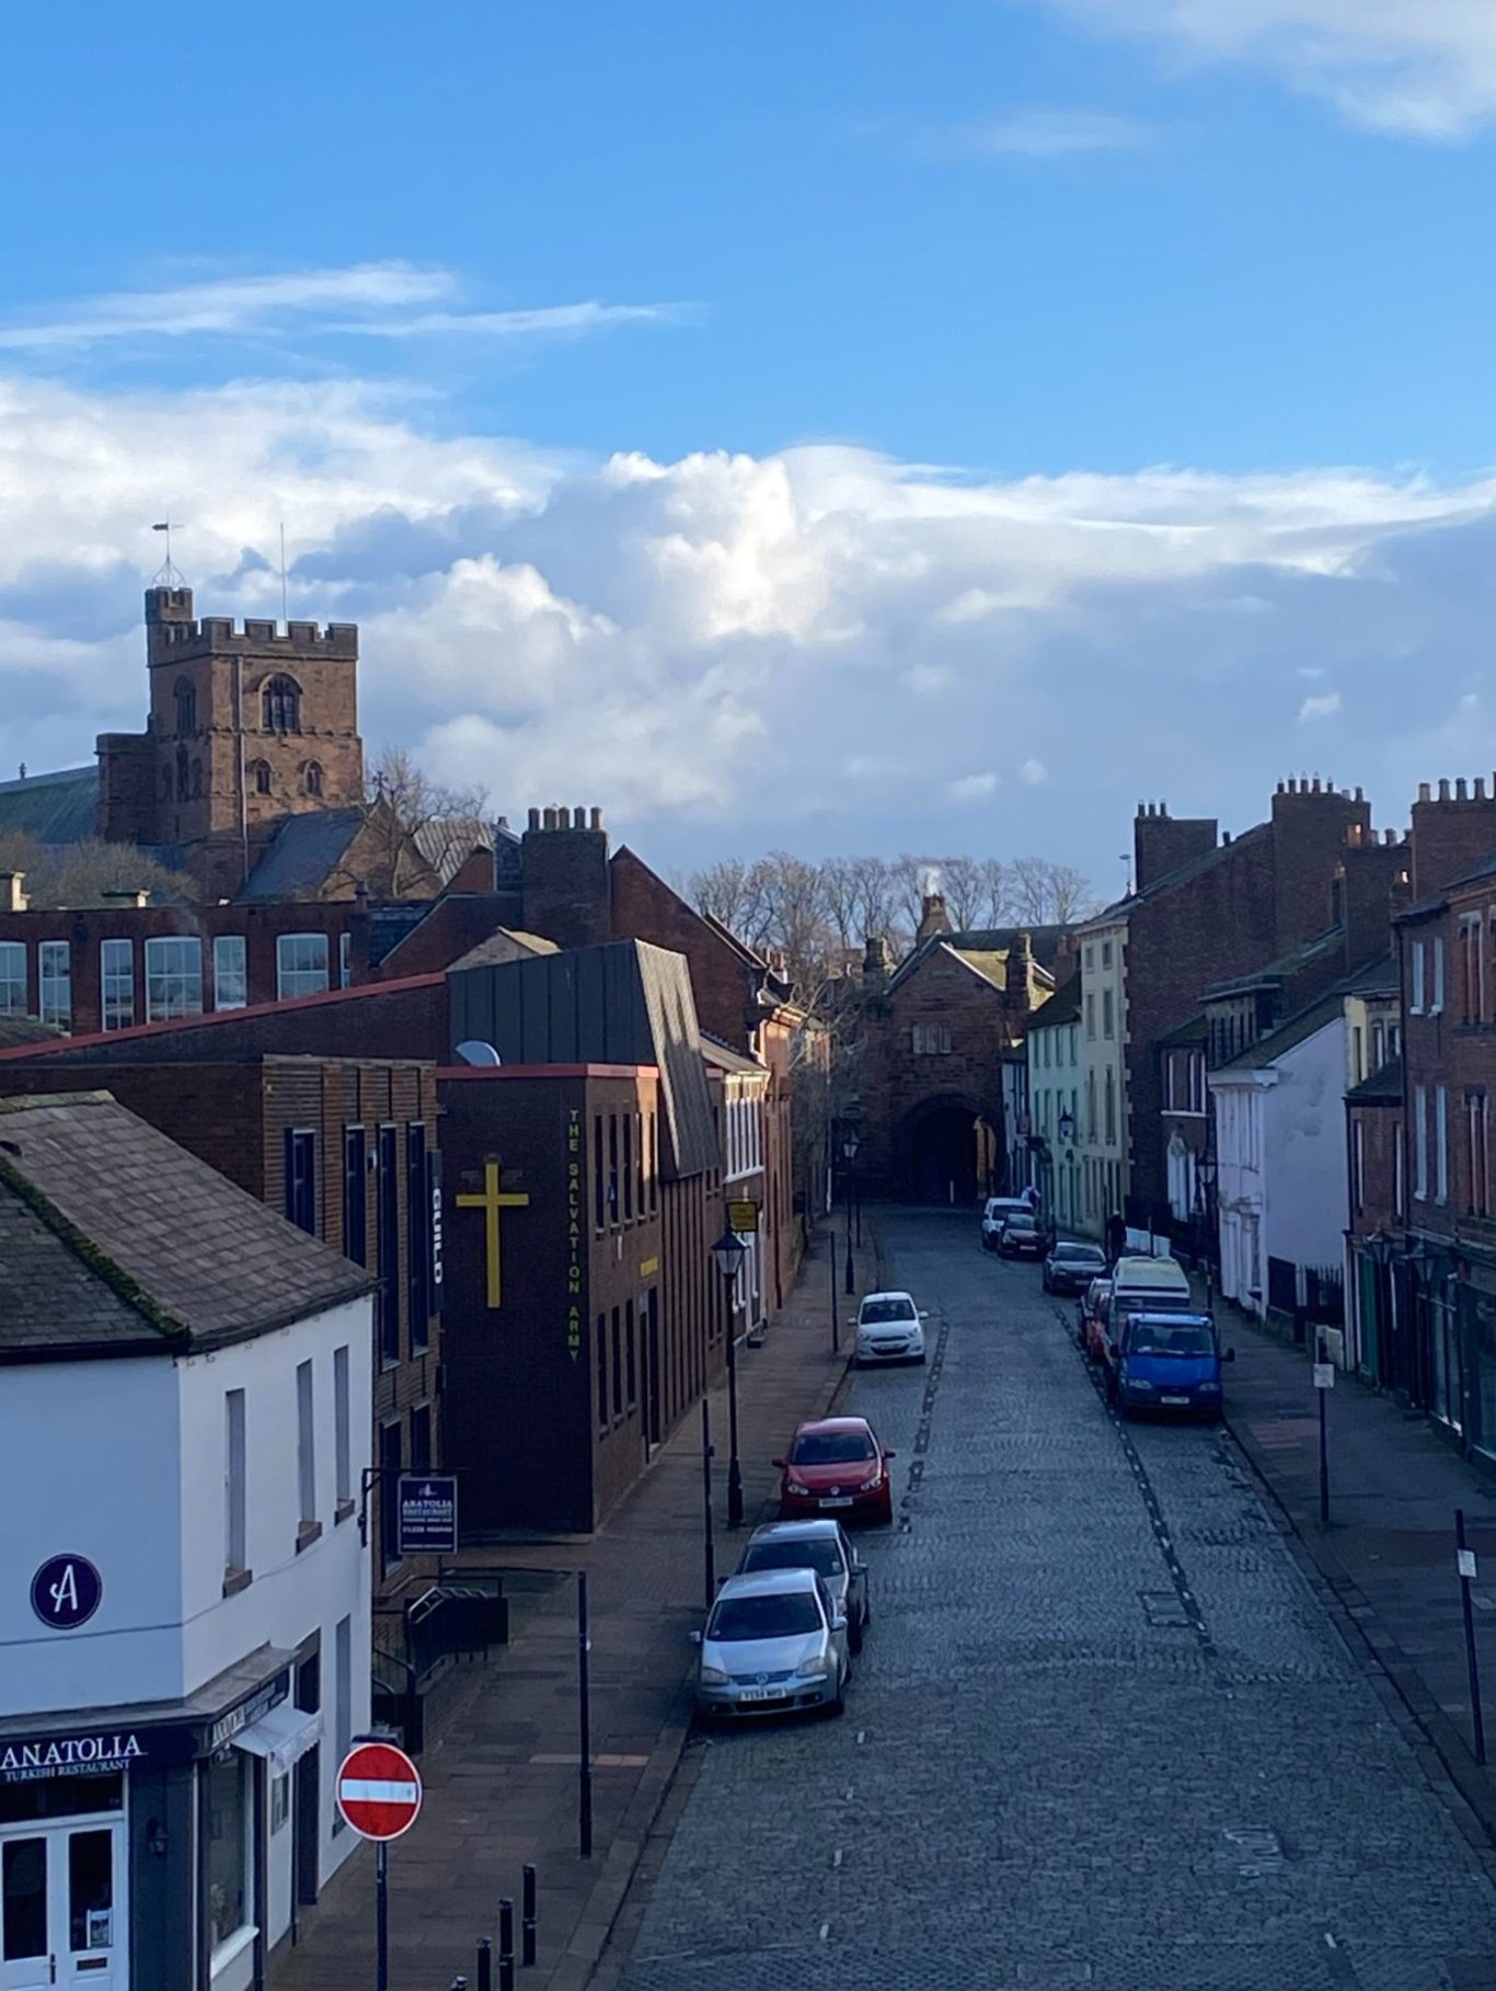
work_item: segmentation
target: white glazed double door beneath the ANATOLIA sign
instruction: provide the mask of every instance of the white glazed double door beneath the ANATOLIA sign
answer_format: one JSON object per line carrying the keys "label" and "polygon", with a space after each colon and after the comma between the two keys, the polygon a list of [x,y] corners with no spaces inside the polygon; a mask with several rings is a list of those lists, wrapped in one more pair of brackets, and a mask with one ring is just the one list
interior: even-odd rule
{"label": "white glazed double door beneath the ANATOLIA sign", "polygon": [[0,1840],[0,1991],[129,1991],[123,1852],[103,1822]]}

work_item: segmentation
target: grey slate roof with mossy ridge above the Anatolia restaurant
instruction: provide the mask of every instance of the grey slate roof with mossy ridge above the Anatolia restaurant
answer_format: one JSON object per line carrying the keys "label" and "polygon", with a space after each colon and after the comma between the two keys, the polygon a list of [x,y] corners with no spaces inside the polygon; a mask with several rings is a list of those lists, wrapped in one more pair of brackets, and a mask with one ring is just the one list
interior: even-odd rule
{"label": "grey slate roof with mossy ridge above the Anatolia restaurant", "polygon": [[215,1348],[374,1284],[109,1093],[0,1099],[0,1362]]}

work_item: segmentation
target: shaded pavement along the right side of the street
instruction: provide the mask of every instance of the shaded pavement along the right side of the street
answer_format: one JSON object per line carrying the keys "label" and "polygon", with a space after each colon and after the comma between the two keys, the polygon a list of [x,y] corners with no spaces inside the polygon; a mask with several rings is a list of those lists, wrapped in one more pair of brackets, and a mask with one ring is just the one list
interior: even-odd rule
{"label": "shaded pavement along the right side of the street", "polygon": [[1216,1302],[1237,1360],[1227,1424],[1291,1525],[1297,1553],[1343,1607],[1426,1730],[1444,1770],[1496,1834],[1496,1780],[1474,1758],[1470,1672],[1454,1511],[1476,1551],[1472,1585],[1484,1724],[1496,1756],[1496,1483],[1464,1461],[1422,1412],[1337,1372],[1325,1400],[1329,1527],[1319,1521],[1319,1406],[1313,1346],[1297,1348]]}

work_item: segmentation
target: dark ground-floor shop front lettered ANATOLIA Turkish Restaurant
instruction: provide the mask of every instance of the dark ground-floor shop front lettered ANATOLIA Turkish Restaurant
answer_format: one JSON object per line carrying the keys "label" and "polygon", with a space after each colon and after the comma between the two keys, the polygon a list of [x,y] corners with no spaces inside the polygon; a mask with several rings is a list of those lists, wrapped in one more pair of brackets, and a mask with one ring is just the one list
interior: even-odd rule
{"label": "dark ground-floor shop front lettered ANATOLIA Turkish Restaurant", "polygon": [[0,1991],[253,1991],[322,1716],[261,1651],[189,1702],[0,1722]]}

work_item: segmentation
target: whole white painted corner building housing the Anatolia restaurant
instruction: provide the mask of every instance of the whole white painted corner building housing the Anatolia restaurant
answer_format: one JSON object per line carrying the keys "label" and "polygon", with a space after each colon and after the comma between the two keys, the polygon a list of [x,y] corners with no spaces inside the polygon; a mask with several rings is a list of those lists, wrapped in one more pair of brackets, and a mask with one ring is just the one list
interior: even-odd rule
{"label": "whole white painted corner building housing the Anatolia restaurant", "polygon": [[356,1844],[370,1278],[107,1095],[0,1135],[0,1985],[247,1991]]}

